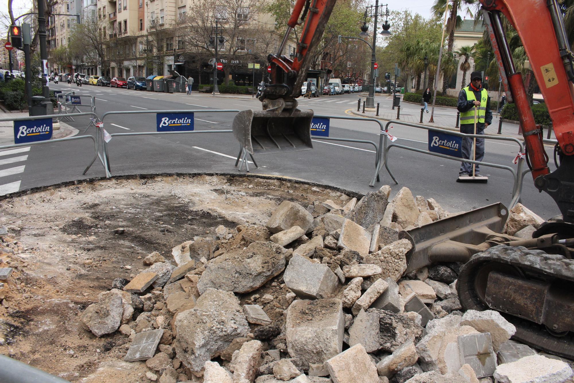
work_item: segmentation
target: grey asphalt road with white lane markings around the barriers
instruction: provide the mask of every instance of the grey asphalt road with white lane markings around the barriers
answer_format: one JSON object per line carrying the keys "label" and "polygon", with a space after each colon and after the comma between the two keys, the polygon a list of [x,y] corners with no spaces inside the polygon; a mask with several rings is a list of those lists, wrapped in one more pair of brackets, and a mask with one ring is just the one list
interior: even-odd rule
{"label": "grey asphalt road with white lane markings around the barriers", "polygon": [[[218,113],[216,109],[261,110],[261,102],[251,98],[214,97],[193,93],[152,93],[96,87],[84,85],[50,84],[51,89],[73,90],[77,94],[95,95],[98,115],[111,110],[141,111],[185,109],[198,110],[195,117],[195,130],[230,129],[235,113]],[[315,114],[349,117],[347,110],[357,107],[358,94],[324,96],[301,99],[300,109],[313,109]],[[381,108],[390,108],[391,99],[383,95],[375,98]],[[403,108],[408,108],[405,104]],[[414,109],[417,106],[413,106]],[[89,108],[81,108],[87,111]],[[435,113],[452,114],[453,109],[437,110]],[[67,122],[80,129],[80,134],[88,124],[87,118],[77,118]],[[104,128],[110,133],[154,132],[155,114],[112,115],[104,120]],[[377,122],[331,120],[331,137],[371,140],[378,143],[379,125]],[[90,128],[88,134],[93,134]],[[398,137],[395,143],[415,148],[428,147],[428,133],[422,129],[394,125],[391,133]],[[238,173],[234,167],[239,145],[231,133],[192,134],[192,135],[149,135],[133,137],[113,137],[108,144],[113,175],[142,173],[193,173],[226,172]],[[485,160],[492,163],[512,165],[518,152],[513,143],[487,141]],[[3,154],[2,160],[22,157],[26,159],[13,166],[25,166],[21,173],[3,174],[0,167],[0,191],[2,185],[20,181],[20,189],[52,185],[73,179],[102,177],[103,167],[99,162],[82,175],[84,168],[94,155],[91,140],[77,140],[69,143],[52,143],[31,147],[25,153]],[[325,183],[367,193],[374,190],[369,186],[374,175],[375,153],[369,144],[343,141],[313,140],[313,150],[290,152],[277,155],[255,157],[259,168],[250,164],[251,173],[282,175]],[[393,148],[389,154],[389,167],[397,178],[395,185],[383,168],[381,181],[376,187],[391,185],[393,194],[406,186],[414,195],[433,197],[447,210],[458,212],[484,206],[494,202],[508,204],[511,199],[512,178],[509,171],[497,168],[483,168],[481,173],[488,175],[488,183],[457,183],[459,162],[437,158],[413,151]],[[325,196],[327,199],[328,196]],[[559,214],[552,198],[538,193],[532,177],[526,175],[522,202],[545,219]]]}

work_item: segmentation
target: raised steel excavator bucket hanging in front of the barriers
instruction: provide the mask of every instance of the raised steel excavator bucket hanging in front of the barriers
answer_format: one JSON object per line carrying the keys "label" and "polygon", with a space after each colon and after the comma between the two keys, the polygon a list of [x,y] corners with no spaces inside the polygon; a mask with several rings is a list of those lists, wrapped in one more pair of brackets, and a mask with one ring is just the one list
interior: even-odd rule
{"label": "raised steel excavator bucket hanging in front of the barriers", "polygon": [[233,120],[233,135],[251,154],[297,152],[313,148],[312,110],[243,110]]}

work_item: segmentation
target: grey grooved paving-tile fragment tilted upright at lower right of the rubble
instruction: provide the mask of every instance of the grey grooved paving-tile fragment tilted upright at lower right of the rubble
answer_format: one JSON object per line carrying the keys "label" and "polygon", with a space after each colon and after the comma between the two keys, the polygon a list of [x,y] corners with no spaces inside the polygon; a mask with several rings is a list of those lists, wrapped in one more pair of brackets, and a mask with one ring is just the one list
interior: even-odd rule
{"label": "grey grooved paving-tile fragment tilted upright at lower right of the rubble", "polygon": [[492,350],[490,334],[459,336],[460,364],[470,365],[476,377],[491,376],[497,368],[497,355]]}

